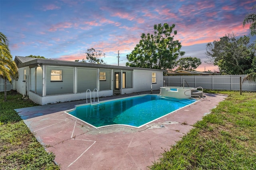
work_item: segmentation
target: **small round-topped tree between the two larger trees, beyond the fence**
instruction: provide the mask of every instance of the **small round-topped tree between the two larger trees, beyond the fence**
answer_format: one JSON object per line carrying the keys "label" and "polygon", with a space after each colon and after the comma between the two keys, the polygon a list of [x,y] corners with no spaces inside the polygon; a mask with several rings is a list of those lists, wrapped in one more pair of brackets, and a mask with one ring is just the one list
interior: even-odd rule
{"label": "small round-topped tree between the two larger trees, beyond the fence", "polygon": [[184,57],[184,58],[180,58],[177,61],[177,64],[179,65],[180,69],[184,69],[186,71],[192,71],[193,69],[196,69],[200,64],[202,64],[202,62],[200,58]]}

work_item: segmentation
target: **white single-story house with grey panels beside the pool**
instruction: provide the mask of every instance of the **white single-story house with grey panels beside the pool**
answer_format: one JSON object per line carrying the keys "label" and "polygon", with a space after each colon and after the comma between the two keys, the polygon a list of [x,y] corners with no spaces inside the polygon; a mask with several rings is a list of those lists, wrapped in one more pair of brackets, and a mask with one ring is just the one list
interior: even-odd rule
{"label": "white single-story house with grey panels beside the pool", "polygon": [[97,96],[95,89],[99,97],[106,97],[163,86],[164,70],[159,69],[20,56],[14,61],[19,69],[15,89],[40,105],[86,99],[86,95],[90,99],[90,91],[92,98]]}

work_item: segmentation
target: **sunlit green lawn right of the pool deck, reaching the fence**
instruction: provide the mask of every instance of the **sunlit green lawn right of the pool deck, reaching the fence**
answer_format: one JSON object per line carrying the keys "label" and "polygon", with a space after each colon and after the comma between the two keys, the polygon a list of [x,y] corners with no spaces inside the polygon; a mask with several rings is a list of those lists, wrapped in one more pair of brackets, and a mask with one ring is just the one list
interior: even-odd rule
{"label": "sunlit green lawn right of the pool deck, reaching the fence", "polygon": [[256,169],[256,93],[205,92],[227,94],[228,98],[148,168]]}

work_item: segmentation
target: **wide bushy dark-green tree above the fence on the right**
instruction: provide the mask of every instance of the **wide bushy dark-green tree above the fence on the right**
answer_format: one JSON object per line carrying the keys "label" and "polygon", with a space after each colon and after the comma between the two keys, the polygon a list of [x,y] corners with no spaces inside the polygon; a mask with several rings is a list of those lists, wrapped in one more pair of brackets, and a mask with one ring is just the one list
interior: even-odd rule
{"label": "wide bushy dark-green tree above the fence on the right", "polygon": [[207,43],[205,54],[208,57],[206,62],[218,65],[222,73],[247,74],[252,69],[255,46],[250,44],[250,37],[237,38],[233,33]]}

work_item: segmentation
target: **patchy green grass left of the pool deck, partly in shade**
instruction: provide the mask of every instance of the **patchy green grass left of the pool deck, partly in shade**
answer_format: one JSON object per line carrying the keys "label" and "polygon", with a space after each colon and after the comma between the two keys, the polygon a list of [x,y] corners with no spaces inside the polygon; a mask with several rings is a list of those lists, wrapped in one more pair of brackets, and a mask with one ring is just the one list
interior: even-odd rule
{"label": "patchy green grass left of the pool deck, partly in shade", "polygon": [[29,128],[14,109],[36,106],[23,100],[16,91],[8,92],[7,102],[0,93],[0,169],[1,170],[58,170],[54,154],[37,142]]}

